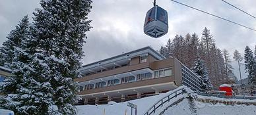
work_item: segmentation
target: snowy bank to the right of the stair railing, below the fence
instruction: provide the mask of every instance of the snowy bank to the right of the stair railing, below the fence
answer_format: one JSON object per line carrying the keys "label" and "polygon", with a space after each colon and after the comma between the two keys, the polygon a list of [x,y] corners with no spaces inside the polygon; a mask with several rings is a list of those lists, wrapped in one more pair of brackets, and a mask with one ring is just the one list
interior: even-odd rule
{"label": "snowy bank to the right of the stair railing, below the fence", "polygon": [[189,104],[188,99],[184,99],[181,103],[168,108],[164,115],[178,114],[178,115],[255,115],[256,106],[253,105],[225,105],[225,104],[210,104],[210,103],[201,103],[195,101],[195,104],[192,106]]}

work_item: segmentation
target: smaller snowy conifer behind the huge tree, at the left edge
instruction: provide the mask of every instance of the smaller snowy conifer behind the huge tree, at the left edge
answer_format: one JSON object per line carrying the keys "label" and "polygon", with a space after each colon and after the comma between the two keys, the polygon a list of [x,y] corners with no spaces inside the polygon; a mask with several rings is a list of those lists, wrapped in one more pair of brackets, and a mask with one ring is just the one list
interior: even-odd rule
{"label": "smaller snowy conifer behind the huge tree, at the left edge", "polygon": [[20,47],[22,39],[26,39],[28,36],[28,26],[28,16],[24,16],[15,30],[12,30],[7,36],[7,41],[3,42],[3,47],[0,48],[0,66],[10,68],[15,47]]}

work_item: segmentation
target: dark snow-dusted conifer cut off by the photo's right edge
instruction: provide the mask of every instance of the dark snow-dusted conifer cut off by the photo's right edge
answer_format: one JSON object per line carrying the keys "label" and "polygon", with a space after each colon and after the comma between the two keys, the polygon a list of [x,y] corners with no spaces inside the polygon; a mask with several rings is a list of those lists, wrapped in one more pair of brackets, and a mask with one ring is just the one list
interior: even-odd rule
{"label": "dark snow-dusted conifer cut off by the photo's right edge", "polygon": [[246,46],[245,47],[245,54],[244,54],[244,60],[245,60],[245,72],[248,74],[248,84],[256,84],[256,73],[255,73],[255,58],[253,57],[253,51]]}

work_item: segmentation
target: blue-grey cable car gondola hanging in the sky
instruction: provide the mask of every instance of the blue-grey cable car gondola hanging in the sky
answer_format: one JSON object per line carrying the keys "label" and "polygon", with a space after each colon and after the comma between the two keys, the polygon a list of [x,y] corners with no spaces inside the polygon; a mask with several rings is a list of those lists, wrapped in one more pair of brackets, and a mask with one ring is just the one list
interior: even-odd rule
{"label": "blue-grey cable car gondola hanging in the sky", "polygon": [[150,37],[161,37],[168,32],[168,14],[167,11],[156,5],[146,12],[144,22],[144,34]]}

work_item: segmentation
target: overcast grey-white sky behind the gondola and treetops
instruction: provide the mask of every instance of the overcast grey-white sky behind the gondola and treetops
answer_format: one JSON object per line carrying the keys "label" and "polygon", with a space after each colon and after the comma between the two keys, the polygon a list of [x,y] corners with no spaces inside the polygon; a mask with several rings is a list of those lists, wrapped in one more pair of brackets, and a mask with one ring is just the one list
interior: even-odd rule
{"label": "overcast grey-white sky behind the gondola and treetops", "polygon": [[[202,12],[183,7],[170,0],[157,0],[157,4],[168,11],[168,34],[158,39],[148,37],[143,33],[144,16],[152,7],[153,0],[96,0],[92,3],[89,14],[93,26],[86,35],[83,47],[85,57],[83,64],[96,60],[120,55],[122,52],[133,51],[148,45],[158,50],[165,45],[167,39],[173,39],[176,34],[193,34],[201,37],[203,28],[210,29],[217,47],[227,49],[233,57],[238,49],[243,54],[245,46],[254,49],[256,32],[214,18]],[[228,18],[234,22],[256,29],[256,19],[252,18],[221,0],[177,0],[203,11]],[[256,16],[255,0],[226,0],[236,7]],[[40,7],[39,0],[0,0],[0,46],[6,40],[7,34],[13,30],[18,21],[26,14],[33,16],[34,9]],[[234,73],[238,76],[238,68],[234,65]],[[242,69],[243,70],[243,69]],[[243,71],[244,72],[244,71]],[[243,74],[243,78],[245,74]]]}

